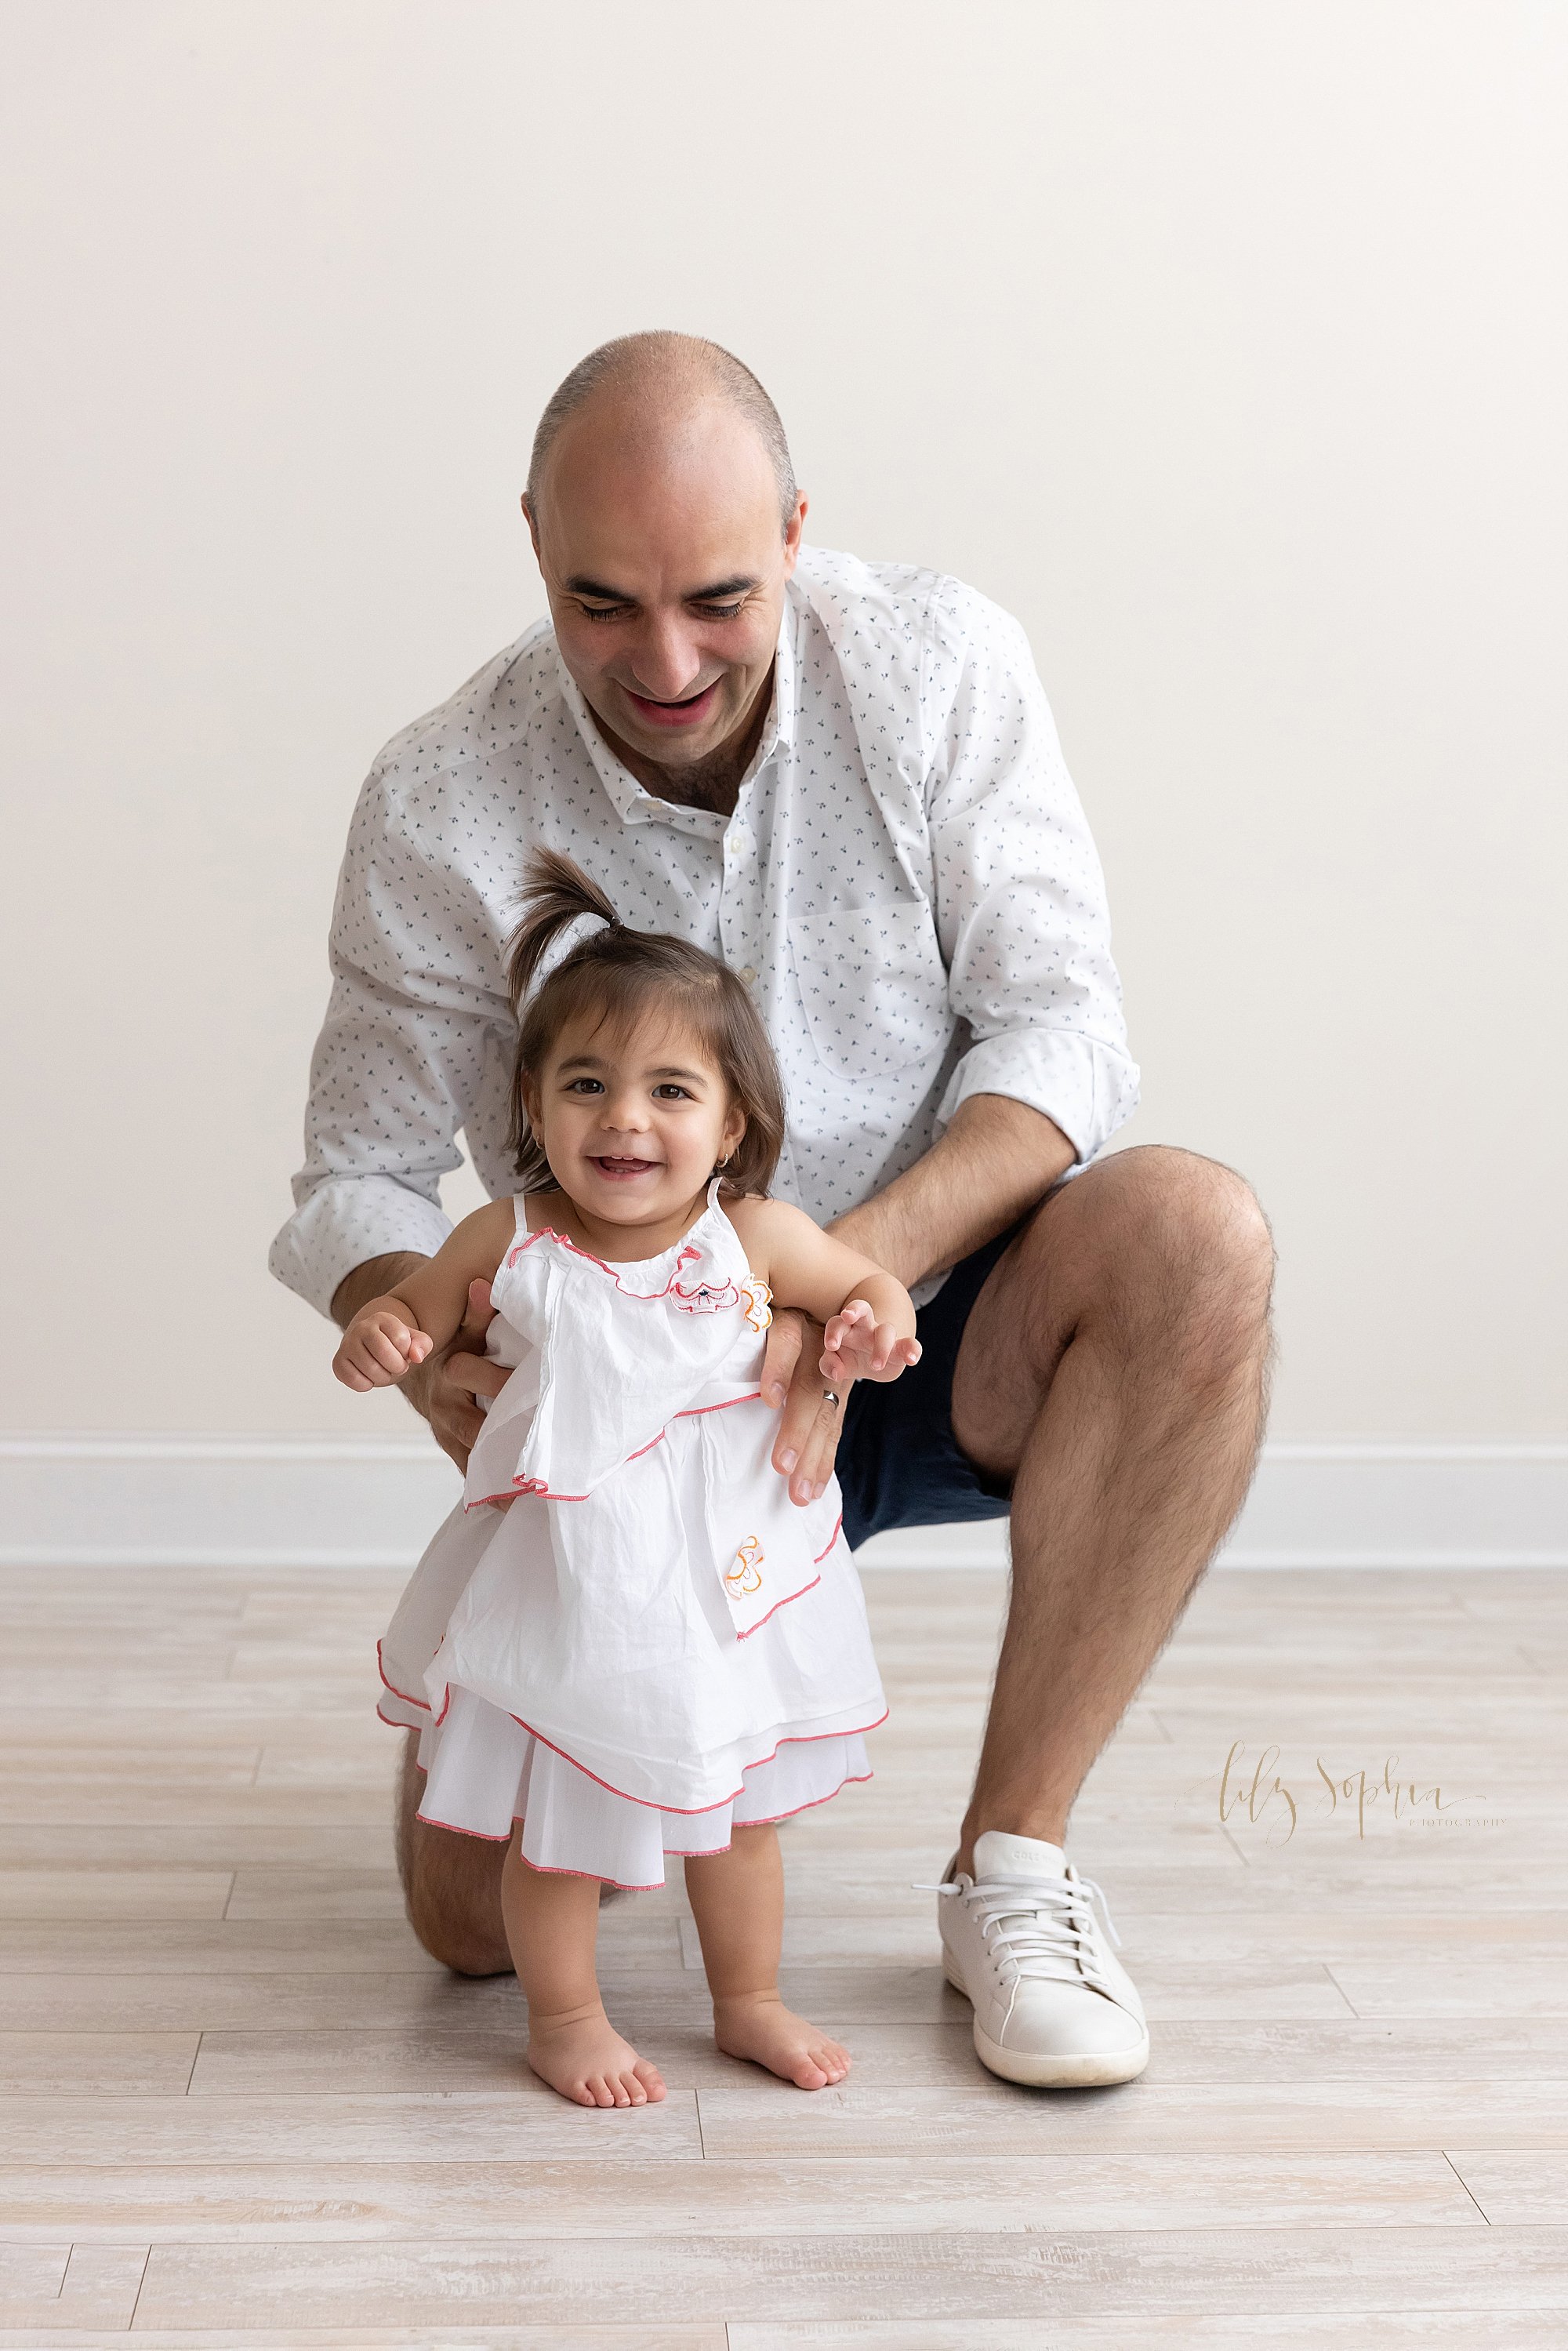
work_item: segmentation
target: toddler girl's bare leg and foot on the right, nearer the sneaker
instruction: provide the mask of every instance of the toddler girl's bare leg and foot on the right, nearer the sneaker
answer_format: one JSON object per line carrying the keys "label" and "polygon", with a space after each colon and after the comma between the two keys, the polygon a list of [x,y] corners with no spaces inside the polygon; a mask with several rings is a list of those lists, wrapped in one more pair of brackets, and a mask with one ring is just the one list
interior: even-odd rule
{"label": "toddler girl's bare leg and foot on the right, nearer the sneaker", "polygon": [[712,1991],[712,2034],[726,2057],[750,2057],[797,2090],[849,2074],[849,2050],[778,1998],[783,1860],[778,1831],[736,1829],[729,1853],[693,1853],[686,1895]]}

